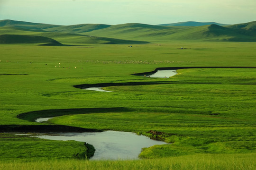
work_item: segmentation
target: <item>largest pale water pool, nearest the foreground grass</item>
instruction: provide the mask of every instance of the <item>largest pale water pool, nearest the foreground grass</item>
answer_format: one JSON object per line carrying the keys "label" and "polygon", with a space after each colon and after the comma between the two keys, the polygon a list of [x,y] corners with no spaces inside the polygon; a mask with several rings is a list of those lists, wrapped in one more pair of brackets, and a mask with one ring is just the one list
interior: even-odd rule
{"label": "largest pale water pool, nearest the foreground grass", "polygon": [[60,136],[39,135],[50,140],[75,140],[92,144],[94,156],[90,160],[135,160],[141,149],[155,144],[166,144],[131,132],[104,131],[83,133],[58,133]]}

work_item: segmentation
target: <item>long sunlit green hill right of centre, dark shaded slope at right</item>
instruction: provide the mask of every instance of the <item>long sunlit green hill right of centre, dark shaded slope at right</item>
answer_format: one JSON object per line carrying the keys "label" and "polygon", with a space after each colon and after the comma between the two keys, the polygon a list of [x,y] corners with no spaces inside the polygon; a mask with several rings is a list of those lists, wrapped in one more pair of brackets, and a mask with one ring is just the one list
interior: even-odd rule
{"label": "long sunlit green hill right of centre, dark shaded slope at right", "polygon": [[[253,22],[255,23],[255,22]],[[124,38],[132,40],[146,40],[150,42],[172,40],[201,40],[201,41],[238,41],[255,42],[256,36],[251,36],[256,26],[250,24],[250,30],[239,31],[232,27],[208,25],[208,26],[154,26],[125,24],[110,26],[101,30],[91,31],[91,35]]]}

